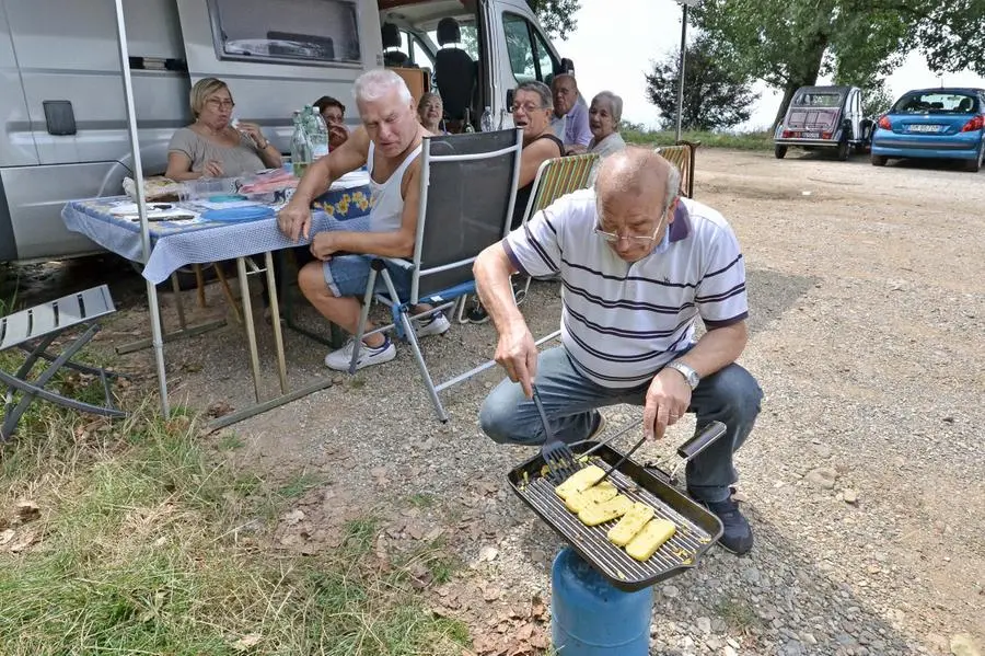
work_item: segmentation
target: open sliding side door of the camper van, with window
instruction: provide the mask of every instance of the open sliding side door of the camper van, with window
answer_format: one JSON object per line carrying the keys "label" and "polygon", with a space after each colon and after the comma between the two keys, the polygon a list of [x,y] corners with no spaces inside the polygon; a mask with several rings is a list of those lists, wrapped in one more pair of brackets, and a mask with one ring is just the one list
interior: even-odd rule
{"label": "open sliding side door of the camper van, with window", "polygon": [[290,150],[291,114],[323,95],[358,123],[352,82],[383,65],[375,0],[177,0],[192,80],[225,81],[235,116]]}

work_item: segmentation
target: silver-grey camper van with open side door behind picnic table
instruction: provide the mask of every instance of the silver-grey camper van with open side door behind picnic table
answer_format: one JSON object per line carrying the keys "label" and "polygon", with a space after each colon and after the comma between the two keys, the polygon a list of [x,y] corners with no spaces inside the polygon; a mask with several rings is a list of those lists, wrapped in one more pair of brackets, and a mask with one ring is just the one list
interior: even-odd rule
{"label": "silver-grey camper van with open side door behind picnic table", "polygon": [[[384,64],[412,90],[468,87],[476,129],[486,107],[495,127],[512,125],[518,82],[571,69],[525,0],[124,0],[124,12],[146,175],[164,172],[204,77],[228,82],[236,117],[287,153],[292,111],[333,95],[356,125],[352,81]],[[461,53],[441,51],[448,18],[471,79]],[[114,0],[0,0],[0,262],[99,251],[66,230],[60,211],[120,194],[132,175],[116,39]]]}

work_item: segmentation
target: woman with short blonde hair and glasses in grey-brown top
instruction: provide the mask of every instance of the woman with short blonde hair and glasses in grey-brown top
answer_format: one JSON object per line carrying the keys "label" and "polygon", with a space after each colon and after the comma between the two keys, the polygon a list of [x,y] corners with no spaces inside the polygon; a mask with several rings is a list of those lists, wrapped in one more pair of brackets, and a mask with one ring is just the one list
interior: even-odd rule
{"label": "woman with short blonde hair and glasses in grey-brown top", "polygon": [[204,78],[190,94],[195,123],[178,129],[167,146],[166,177],[236,177],[264,169],[277,169],[280,152],[255,123],[231,124],[235,106],[222,80]]}

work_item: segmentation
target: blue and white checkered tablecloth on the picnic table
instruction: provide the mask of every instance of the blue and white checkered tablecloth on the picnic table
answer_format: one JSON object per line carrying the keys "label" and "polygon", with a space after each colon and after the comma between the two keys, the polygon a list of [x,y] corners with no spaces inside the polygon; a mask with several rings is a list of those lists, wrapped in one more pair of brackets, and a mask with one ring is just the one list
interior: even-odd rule
{"label": "blue and white checkered tablecloth on the picnic table", "polygon": [[[368,230],[370,189],[339,186],[320,196],[313,204],[312,234],[323,230]],[[143,262],[140,221],[112,214],[113,208],[132,203],[126,196],[72,200],[61,210],[69,230],[81,232],[107,251],[134,262]],[[176,207],[200,215],[201,204],[176,203]],[[274,218],[243,222],[210,222],[196,216],[192,220],[150,223],[151,256],[144,263],[143,277],[158,284],[188,264],[207,264],[308,243],[292,242],[277,229]]]}

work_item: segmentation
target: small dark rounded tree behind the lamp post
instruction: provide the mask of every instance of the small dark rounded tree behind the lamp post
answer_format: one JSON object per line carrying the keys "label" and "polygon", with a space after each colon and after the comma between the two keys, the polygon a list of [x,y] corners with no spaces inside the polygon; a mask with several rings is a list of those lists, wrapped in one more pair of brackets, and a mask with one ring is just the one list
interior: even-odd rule
{"label": "small dark rounded tree behind the lamp post", "polygon": [[[760,97],[751,89],[748,74],[730,69],[727,53],[711,38],[699,35],[688,44],[684,61],[684,105],[682,127],[688,130],[730,128],[749,120],[752,104]],[[660,122],[671,129],[677,117],[677,84],[681,51],[653,64],[647,74],[647,97],[660,110]]]}

